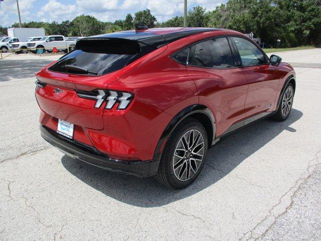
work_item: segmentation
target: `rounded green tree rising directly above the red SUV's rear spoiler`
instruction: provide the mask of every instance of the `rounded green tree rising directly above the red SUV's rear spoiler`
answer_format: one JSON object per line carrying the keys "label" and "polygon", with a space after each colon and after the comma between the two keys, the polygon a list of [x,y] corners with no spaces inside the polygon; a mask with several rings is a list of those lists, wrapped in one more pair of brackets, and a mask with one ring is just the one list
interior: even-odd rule
{"label": "rounded green tree rising directly above the red SUV's rear spoiler", "polygon": [[70,23],[71,35],[91,36],[102,34],[104,32],[104,23],[98,21],[95,17],[80,15]]}

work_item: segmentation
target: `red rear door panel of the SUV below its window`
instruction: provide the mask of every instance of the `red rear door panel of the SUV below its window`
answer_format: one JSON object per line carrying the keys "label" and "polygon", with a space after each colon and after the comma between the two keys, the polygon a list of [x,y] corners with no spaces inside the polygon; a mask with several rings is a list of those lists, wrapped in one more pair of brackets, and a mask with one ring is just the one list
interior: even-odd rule
{"label": "red rear door panel of the SUV below its window", "polygon": [[216,136],[246,117],[247,80],[241,68],[211,69],[187,66],[199,91],[200,104],[214,113]]}

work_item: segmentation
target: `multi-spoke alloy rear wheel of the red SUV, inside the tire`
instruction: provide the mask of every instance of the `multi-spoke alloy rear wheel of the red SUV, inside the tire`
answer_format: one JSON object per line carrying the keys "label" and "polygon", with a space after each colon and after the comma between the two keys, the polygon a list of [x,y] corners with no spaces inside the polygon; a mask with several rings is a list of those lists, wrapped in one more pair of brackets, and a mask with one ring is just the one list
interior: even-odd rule
{"label": "multi-spoke alloy rear wheel of the red SUV, inside the tire", "polygon": [[204,156],[204,138],[197,130],[186,132],[179,140],[173,157],[173,170],[180,181],[191,179],[198,171]]}

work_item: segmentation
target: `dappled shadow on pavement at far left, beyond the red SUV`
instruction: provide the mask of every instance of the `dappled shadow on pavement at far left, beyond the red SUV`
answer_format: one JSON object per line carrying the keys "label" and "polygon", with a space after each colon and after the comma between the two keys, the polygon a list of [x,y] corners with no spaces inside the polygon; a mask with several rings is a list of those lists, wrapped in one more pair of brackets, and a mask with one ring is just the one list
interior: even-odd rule
{"label": "dappled shadow on pavement at far left, beyond the red SUV", "polygon": [[[34,77],[36,72],[52,62],[53,60],[44,59],[0,60],[0,73],[1,76],[3,76],[0,76],[0,82]],[[6,78],[4,78],[4,76],[6,76]]]}

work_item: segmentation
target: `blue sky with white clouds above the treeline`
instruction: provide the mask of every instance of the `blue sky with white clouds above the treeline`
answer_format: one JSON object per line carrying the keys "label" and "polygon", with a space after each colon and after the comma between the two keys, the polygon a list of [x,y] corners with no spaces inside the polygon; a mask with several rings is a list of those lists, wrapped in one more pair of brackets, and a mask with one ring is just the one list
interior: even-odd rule
{"label": "blue sky with white clouds above the treeline", "polygon": [[[214,10],[227,0],[188,0],[188,9],[201,5]],[[184,0],[19,0],[22,22],[73,20],[85,14],[100,21],[124,19],[140,10],[150,9],[158,22],[183,15]],[[9,27],[19,22],[16,0],[0,1],[0,26]]]}

